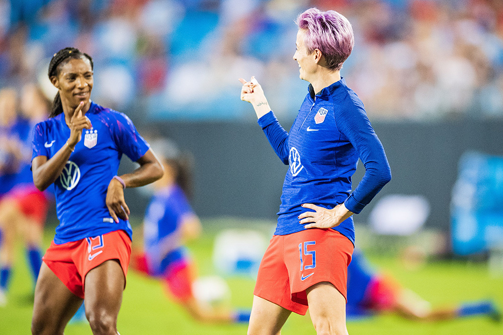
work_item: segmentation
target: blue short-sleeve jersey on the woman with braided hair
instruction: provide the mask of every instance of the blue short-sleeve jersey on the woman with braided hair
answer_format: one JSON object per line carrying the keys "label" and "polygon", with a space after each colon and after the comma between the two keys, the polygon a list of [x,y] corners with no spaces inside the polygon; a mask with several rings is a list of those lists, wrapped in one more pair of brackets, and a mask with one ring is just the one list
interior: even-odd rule
{"label": "blue short-sleeve jersey on the woman with braided hair", "polygon": [[[149,145],[124,114],[94,102],[86,113],[93,128],[82,131],[61,175],[54,182],[59,225],[54,243],[78,241],[117,230],[131,238],[129,221],[115,223],[105,203],[107,189],[117,174],[122,154],[140,159]],[[33,158],[56,154],[70,137],[64,114],[38,123],[34,130]]]}

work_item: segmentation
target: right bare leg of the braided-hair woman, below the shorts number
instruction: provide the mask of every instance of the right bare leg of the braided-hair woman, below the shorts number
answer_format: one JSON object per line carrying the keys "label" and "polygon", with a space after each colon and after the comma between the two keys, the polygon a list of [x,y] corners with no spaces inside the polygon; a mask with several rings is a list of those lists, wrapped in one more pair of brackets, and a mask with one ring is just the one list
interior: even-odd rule
{"label": "right bare leg of the braided-hair woman, below the shorts number", "polygon": [[126,278],[117,260],[106,261],[86,275],[84,304],[94,335],[117,335],[117,316]]}

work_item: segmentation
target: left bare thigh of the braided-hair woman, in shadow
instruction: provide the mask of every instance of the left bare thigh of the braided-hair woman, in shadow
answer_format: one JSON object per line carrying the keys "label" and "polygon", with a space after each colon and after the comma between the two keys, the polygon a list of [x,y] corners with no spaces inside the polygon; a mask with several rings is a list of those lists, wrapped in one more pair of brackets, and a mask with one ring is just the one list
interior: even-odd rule
{"label": "left bare thigh of the braided-hair woman, in shadow", "polygon": [[62,335],[66,323],[81,303],[82,299],[71,293],[51,269],[42,263],[35,287],[32,333]]}

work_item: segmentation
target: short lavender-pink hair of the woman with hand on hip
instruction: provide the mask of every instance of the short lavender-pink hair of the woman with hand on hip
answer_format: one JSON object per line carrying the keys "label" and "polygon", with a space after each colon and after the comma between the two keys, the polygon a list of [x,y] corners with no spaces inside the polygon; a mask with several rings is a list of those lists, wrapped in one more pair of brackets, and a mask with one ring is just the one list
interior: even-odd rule
{"label": "short lavender-pink hair of the woman with hand on hip", "polygon": [[325,57],[328,69],[340,70],[355,45],[348,19],[336,11],[321,12],[311,8],[300,14],[296,23],[299,29],[306,31],[304,44],[307,52],[310,54],[318,49]]}

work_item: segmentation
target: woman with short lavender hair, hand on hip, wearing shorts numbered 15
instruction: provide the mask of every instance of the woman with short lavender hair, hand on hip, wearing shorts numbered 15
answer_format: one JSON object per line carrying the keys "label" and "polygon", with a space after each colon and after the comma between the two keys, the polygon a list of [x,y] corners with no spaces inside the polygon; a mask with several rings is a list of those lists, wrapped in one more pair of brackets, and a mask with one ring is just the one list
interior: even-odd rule
{"label": "woman with short lavender hair, hand on hip, wearing shorts numbered 15", "polygon": [[[271,146],[290,165],[278,226],[260,265],[248,333],[279,333],[292,311],[305,314],[309,307],[317,333],[346,334],[347,267],[355,241],[351,215],[372,200],[391,173],[362,101],[341,77],[354,45],[351,24],[337,12],[315,8],[300,14],[297,24],[293,59],[300,78],[310,84],[290,133],[257,80],[239,79],[241,100],[254,106]],[[359,158],[365,176],[351,192]]]}

